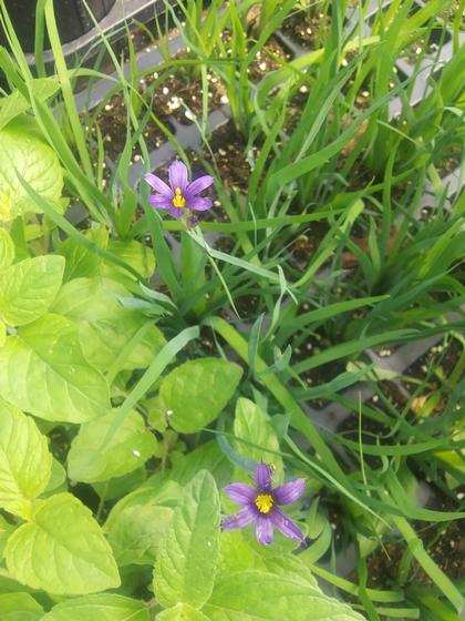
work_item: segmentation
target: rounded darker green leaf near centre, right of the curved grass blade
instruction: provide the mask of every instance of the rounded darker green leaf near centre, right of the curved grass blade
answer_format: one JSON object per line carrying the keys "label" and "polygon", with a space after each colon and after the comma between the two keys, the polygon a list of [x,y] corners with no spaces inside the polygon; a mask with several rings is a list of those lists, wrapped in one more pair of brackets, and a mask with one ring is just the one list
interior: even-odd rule
{"label": "rounded darker green leaf near centre, right of the curved grass blade", "polygon": [[159,389],[170,426],[194,434],[209,425],[232,397],[241,375],[239,365],[220,358],[199,358],[176,367]]}

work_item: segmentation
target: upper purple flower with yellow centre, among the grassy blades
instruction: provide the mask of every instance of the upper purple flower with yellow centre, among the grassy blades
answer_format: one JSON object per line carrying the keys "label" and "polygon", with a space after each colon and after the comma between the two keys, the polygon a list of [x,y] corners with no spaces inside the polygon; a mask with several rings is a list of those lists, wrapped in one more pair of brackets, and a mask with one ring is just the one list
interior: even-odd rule
{"label": "upper purple flower with yellow centre, among the grassy blades", "polygon": [[152,185],[156,194],[148,202],[156,210],[168,210],[174,217],[182,217],[186,210],[205,212],[211,207],[211,201],[199,196],[200,192],[209,187],[214,180],[209,175],[199,176],[192,183],[188,181],[187,167],[175,160],[168,169],[169,185],[158,176],[147,173],[144,179]]}

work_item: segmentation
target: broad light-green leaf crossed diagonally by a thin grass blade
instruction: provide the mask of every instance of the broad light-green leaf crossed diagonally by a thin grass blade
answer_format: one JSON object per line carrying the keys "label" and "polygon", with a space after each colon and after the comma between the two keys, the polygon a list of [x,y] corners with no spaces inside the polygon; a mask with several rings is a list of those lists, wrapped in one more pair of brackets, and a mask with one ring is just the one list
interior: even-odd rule
{"label": "broad light-green leaf crossed diagonally by a thin grass blade", "polygon": [[[52,308],[79,326],[85,357],[103,371],[147,322],[138,310],[125,308],[112,294],[110,285],[101,278],[75,278],[61,288]],[[123,295],[130,295],[125,289],[123,292]],[[118,293],[122,293],[121,287]],[[127,353],[122,369],[148,366],[165,344],[161,330],[151,326],[144,338]]]}

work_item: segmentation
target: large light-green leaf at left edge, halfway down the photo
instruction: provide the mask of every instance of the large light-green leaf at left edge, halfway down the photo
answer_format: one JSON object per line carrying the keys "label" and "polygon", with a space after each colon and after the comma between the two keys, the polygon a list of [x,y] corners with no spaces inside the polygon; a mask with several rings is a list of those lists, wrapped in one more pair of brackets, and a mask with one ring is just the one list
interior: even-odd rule
{"label": "large light-green leaf at left edge, halfway down the photo", "polygon": [[46,420],[85,423],[110,409],[107,384],[84,358],[76,327],[52,314],[7,338],[0,396]]}

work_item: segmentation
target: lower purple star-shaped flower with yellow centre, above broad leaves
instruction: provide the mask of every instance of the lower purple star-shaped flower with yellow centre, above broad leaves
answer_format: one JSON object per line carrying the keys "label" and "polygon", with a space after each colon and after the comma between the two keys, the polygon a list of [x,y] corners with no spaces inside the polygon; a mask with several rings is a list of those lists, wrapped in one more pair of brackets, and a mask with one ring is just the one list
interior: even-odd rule
{"label": "lower purple star-shaped flower with yellow centre, above broad leaves", "polygon": [[302,531],[281,511],[278,505],[296,502],[303,493],[306,481],[296,479],[272,489],[271,477],[271,468],[260,462],[255,471],[255,488],[246,483],[231,483],[225,487],[229,498],[236,505],[241,505],[244,509],[225,518],[221,528],[234,530],[255,521],[256,537],[262,546],[269,546],[272,542],[273,528],[280,530],[285,537],[302,542]]}

